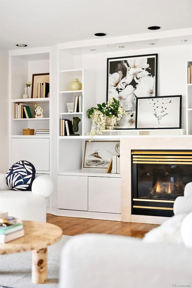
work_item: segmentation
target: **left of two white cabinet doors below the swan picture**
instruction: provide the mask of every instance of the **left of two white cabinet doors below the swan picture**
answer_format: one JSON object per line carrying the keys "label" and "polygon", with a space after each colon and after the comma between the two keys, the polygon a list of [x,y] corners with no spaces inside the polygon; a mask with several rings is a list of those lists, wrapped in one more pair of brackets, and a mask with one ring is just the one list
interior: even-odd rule
{"label": "left of two white cabinet doors below the swan picture", "polygon": [[88,211],[88,177],[58,175],[57,208]]}

